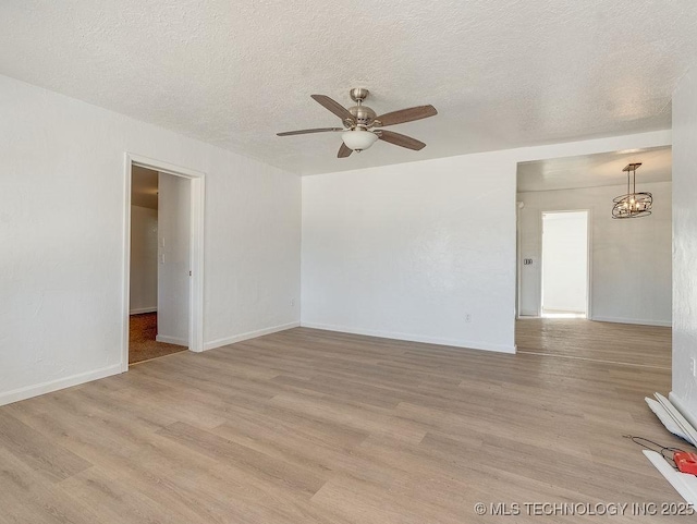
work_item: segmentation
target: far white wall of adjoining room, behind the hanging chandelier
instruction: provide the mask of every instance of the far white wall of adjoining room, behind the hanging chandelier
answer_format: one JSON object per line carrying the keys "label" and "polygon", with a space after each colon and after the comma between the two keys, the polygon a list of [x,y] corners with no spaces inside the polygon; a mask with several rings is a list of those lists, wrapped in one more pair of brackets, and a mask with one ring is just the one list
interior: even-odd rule
{"label": "far white wall of adjoining room, behind the hanging chandelier", "polygon": [[[590,316],[595,320],[671,325],[671,183],[644,184],[653,193],[649,217],[612,219],[612,198],[626,186],[518,193],[521,257],[533,258],[521,275],[521,314],[537,315],[540,304],[542,211],[590,210]],[[628,297],[627,294],[631,296]]]}

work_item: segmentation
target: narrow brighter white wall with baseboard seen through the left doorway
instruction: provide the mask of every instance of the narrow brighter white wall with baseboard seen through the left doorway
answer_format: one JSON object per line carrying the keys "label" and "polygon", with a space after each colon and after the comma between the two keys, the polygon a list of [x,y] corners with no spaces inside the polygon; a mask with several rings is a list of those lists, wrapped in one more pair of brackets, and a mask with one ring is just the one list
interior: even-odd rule
{"label": "narrow brighter white wall with baseboard seen through the left doorway", "polygon": [[158,173],[157,341],[188,346],[189,179]]}

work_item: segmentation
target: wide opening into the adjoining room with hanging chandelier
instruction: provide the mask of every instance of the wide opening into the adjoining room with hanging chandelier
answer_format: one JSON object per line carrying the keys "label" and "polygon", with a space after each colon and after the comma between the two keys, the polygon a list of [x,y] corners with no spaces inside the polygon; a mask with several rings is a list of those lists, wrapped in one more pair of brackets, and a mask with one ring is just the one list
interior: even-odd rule
{"label": "wide opening into the adjoining room with hanging chandelier", "polygon": [[[616,220],[612,216],[613,200],[626,193],[623,168],[634,162],[643,162],[641,169],[646,168],[641,191],[652,193],[653,212],[640,219]],[[671,172],[670,146],[517,164],[518,352],[670,369]],[[573,261],[588,260],[586,300],[582,284],[576,288],[580,288],[576,293],[580,306],[560,305],[543,291],[553,279],[548,271],[551,263],[547,253],[542,254],[542,229],[546,241],[551,234],[550,215],[543,215],[579,210],[587,212],[588,237],[587,242],[583,236],[576,241],[578,251]],[[580,252],[584,244],[587,255]],[[576,275],[583,273],[582,268]],[[573,280],[583,281],[580,276]],[[566,272],[564,278],[568,278]],[[637,285],[640,296],[627,291]],[[584,316],[584,303],[586,318],[573,318]],[[550,316],[558,318],[543,318]],[[638,349],[649,340],[651,343],[644,345],[646,351]]]}

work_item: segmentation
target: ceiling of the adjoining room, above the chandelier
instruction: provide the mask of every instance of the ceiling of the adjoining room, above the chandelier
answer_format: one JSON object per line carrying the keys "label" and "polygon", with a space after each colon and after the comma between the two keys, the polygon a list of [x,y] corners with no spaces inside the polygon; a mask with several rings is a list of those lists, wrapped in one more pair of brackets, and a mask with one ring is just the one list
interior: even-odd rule
{"label": "ceiling of the adjoining room, above the chandelier", "polygon": [[627,173],[622,168],[634,162],[641,162],[636,170],[637,188],[641,191],[641,184],[672,180],[671,153],[670,147],[653,147],[521,162],[518,192],[624,185]]}

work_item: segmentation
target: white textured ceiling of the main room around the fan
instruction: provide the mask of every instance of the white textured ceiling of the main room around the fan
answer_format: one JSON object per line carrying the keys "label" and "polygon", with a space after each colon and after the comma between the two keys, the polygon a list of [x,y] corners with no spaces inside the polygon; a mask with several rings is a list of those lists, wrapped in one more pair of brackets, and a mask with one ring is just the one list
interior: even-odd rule
{"label": "white textured ceiling of the main room around the fan", "polygon": [[[0,73],[297,173],[670,126],[694,0],[3,0]],[[309,98],[439,114],[337,159]]]}

